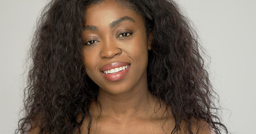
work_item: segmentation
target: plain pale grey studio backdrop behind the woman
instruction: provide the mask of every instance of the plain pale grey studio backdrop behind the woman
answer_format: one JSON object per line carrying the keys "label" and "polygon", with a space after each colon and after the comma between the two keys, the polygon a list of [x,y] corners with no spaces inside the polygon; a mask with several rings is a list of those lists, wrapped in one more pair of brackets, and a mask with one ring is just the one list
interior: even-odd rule
{"label": "plain pale grey studio backdrop behind the woman", "polygon": [[[211,59],[223,122],[232,133],[254,133],[256,1],[176,0],[196,27]],[[22,108],[25,59],[36,18],[48,1],[0,2],[0,133],[14,133]]]}

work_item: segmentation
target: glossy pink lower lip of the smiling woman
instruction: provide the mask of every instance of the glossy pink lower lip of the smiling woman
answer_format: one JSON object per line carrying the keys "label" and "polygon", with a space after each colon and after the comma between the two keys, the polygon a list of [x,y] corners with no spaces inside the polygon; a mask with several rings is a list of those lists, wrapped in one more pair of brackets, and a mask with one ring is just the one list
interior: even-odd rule
{"label": "glossy pink lower lip of the smiling woman", "polygon": [[129,69],[130,69],[130,65],[125,70],[118,71],[117,73],[105,74],[102,72],[102,75],[106,80],[109,80],[111,82],[116,82],[117,80],[121,80],[122,78],[124,78],[124,76],[127,74]]}

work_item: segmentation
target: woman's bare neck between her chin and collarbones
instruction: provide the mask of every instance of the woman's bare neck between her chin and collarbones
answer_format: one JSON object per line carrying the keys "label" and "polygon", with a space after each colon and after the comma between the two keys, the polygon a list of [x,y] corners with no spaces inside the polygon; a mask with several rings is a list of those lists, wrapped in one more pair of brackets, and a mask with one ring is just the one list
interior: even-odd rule
{"label": "woman's bare neck between her chin and collarbones", "polygon": [[124,120],[131,117],[150,116],[156,99],[149,92],[147,82],[141,84],[144,85],[121,94],[109,94],[99,88],[98,101],[102,111],[100,117]]}

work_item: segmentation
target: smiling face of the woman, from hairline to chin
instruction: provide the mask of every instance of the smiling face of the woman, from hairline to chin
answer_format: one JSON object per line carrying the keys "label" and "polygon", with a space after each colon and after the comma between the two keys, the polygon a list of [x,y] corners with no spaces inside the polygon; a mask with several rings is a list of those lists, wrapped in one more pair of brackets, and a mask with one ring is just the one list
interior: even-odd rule
{"label": "smiling face of the woman, from hairline to chin", "polygon": [[116,1],[86,9],[83,30],[86,74],[99,89],[121,94],[147,88],[149,41],[144,19]]}

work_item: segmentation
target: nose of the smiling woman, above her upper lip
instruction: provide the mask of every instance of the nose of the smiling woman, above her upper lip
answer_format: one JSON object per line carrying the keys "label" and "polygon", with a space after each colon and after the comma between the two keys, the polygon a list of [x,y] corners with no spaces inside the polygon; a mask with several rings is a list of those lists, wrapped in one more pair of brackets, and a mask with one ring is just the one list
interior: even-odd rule
{"label": "nose of the smiling woman, above her upper lip", "polygon": [[122,50],[118,47],[115,41],[107,40],[102,44],[102,51],[100,51],[100,58],[111,59],[117,55],[121,55]]}

